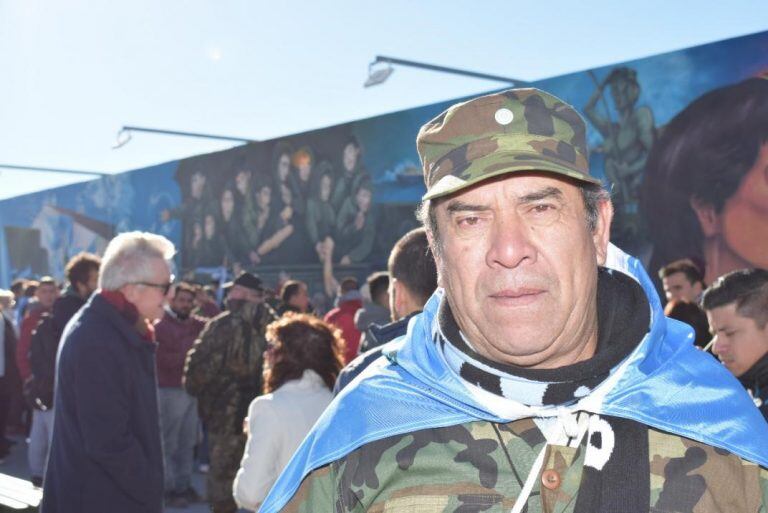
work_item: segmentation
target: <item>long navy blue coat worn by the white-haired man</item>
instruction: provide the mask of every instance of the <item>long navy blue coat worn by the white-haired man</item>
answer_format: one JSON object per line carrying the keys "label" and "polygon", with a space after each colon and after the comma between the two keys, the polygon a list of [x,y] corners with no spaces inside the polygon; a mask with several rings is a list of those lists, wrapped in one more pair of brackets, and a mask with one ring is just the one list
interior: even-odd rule
{"label": "long navy blue coat worn by the white-haired man", "polygon": [[94,295],[59,347],[42,513],[161,513],[155,346]]}

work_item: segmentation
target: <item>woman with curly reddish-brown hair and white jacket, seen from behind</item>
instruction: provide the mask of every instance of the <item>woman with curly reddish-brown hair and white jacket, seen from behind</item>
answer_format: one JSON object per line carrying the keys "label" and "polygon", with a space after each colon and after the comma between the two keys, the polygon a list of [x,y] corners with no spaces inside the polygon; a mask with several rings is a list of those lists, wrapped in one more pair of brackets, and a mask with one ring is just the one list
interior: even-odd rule
{"label": "woman with curly reddish-brown hair and white jacket, seen from behind", "polygon": [[267,326],[264,395],[248,408],[233,492],[257,510],[288,460],[331,402],[342,367],[341,332],[313,315],[289,312]]}

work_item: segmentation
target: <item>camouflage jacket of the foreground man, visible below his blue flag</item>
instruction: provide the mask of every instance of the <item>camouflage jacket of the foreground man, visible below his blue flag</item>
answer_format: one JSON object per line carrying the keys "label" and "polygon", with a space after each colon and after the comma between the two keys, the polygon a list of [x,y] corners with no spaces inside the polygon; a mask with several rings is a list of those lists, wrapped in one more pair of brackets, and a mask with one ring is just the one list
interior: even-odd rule
{"label": "camouflage jacket of the foreground man, visible below his blue flag", "polygon": [[[766,511],[764,469],[727,451],[652,429],[647,443],[649,461],[639,463],[650,469],[650,503],[644,510]],[[476,421],[386,438],[313,471],[283,511],[507,512],[544,444],[531,419],[506,425]],[[523,511],[574,512],[585,444],[547,448]]]}

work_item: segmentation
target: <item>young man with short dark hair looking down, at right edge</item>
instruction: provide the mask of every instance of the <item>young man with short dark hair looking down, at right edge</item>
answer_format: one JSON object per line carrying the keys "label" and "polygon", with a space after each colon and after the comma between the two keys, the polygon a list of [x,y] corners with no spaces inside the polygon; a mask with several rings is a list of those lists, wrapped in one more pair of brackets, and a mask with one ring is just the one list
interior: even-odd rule
{"label": "young man with short dark hair looking down, at right edge", "polygon": [[768,420],[768,271],[741,269],[721,276],[702,302],[715,335],[713,352]]}

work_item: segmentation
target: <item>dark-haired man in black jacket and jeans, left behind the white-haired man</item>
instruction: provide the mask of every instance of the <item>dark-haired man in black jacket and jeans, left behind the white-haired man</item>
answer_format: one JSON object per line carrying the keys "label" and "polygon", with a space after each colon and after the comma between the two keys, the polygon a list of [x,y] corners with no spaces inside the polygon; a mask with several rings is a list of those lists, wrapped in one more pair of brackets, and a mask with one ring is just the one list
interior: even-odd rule
{"label": "dark-haired man in black jacket and jeans, left behind the white-haired man", "polygon": [[67,263],[69,287],[53,304],[52,314],[43,314],[32,333],[29,363],[31,383],[27,385],[32,411],[29,433],[29,470],[35,486],[42,486],[45,462],[53,436],[53,384],[56,377],[56,353],[64,327],[96,290],[101,259],[92,253],[79,253]]}

